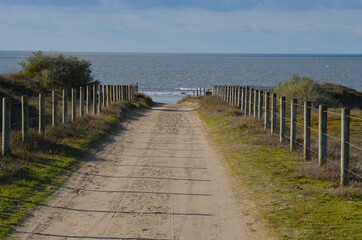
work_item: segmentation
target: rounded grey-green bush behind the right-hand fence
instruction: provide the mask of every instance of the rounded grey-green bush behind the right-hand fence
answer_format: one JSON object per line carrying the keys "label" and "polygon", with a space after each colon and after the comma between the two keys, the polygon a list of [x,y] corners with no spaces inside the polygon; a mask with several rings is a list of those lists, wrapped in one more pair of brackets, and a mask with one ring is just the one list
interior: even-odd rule
{"label": "rounded grey-green bush behind the right-hand fence", "polygon": [[329,107],[337,106],[338,102],[318,83],[309,77],[300,78],[293,75],[292,79],[279,83],[274,90],[278,96],[285,96],[287,100],[296,98],[299,103],[311,101],[313,106],[327,104]]}

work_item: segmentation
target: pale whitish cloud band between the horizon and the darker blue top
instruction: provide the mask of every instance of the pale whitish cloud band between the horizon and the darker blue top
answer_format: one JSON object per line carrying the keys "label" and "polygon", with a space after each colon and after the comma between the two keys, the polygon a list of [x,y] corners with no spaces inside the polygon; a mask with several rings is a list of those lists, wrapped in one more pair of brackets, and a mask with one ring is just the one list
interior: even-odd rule
{"label": "pale whitish cloud band between the horizon and the darker blue top", "polygon": [[362,25],[356,21],[362,21],[360,10],[12,6],[0,8],[0,22],[6,23],[0,24],[0,50],[343,52],[353,47],[362,52]]}

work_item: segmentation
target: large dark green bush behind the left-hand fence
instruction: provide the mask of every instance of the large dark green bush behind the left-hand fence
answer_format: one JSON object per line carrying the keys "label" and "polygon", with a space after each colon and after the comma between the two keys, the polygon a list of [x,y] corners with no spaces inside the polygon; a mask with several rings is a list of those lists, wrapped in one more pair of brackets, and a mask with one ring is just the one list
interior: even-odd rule
{"label": "large dark green bush behind the left-hand fence", "polygon": [[91,62],[78,57],[60,55],[43,55],[41,51],[19,63],[26,76],[37,78],[45,87],[79,87],[94,82]]}

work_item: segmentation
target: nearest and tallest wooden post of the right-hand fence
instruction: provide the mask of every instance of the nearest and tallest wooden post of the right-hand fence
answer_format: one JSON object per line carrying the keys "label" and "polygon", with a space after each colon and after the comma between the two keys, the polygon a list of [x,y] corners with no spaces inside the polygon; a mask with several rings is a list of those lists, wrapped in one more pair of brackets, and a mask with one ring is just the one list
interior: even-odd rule
{"label": "nearest and tallest wooden post of the right-hand fence", "polygon": [[341,112],[341,185],[349,184],[349,130],[350,110],[342,108]]}

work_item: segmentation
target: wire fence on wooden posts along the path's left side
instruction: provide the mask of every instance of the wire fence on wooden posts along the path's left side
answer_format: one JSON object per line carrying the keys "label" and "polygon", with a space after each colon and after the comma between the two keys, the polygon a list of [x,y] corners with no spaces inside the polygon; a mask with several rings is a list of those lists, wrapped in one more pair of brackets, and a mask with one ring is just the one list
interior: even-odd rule
{"label": "wire fence on wooden posts along the path's left side", "polygon": [[[25,143],[29,128],[38,128],[39,134],[45,134],[46,127],[72,122],[86,114],[99,114],[104,107],[112,103],[130,101],[136,92],[137,83],[88,85],[70,91],[63,89],[61,93],[39,93],[38,98],[32,99],[21,96],[20,101],[4,97],[0,104],[2,154],[9,154],[12,148]],[[29,101],[32,104],[29,104]],[[16,142],[11,136],[19,130],[21,141]]]}

